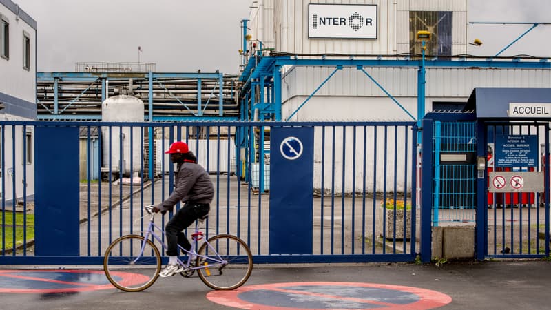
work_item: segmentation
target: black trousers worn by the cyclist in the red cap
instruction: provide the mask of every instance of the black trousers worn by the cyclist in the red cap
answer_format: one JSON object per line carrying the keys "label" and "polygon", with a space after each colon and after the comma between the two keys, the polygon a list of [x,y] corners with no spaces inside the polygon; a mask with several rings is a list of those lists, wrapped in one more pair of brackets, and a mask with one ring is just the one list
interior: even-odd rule
{"label": "black trousers worn by the cyclist in the red cap", "polygon": [[185,205],[172,216],[165,227],[168,256],[178,255],[178,245],[188,251],[191,249],[191,244],[182,231],[193,224],[198,218],[202,218],[209,214],[210,209],[211,207],[208,203],[185,203]]}

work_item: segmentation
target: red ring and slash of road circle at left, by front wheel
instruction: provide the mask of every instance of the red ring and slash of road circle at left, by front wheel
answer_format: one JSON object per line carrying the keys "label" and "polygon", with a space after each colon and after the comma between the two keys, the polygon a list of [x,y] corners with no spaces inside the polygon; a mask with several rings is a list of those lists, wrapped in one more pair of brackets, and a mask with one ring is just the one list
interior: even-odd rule
{"label": "red ring and slash of road circle at left, by front wheel", "polygon": [[[1,285],[1,278],[11,278],[11,279],[19,279],[22,281],[29,280],[32,282],[40,282],[40,283],[52,283],[52,284],[61,284],[61,285],[67,285],[67,287],[63,287],[61,289],[10,289],[10,288],[2,288],[0,287],[0,293],[65,293],[65,292],[76,292],[76,291],[96,291],[100,289],[114,289],[115,287],[111,285],[111,283],[107,282],[105,285],[94,285],[90,283],[83,283],[83,282],[71,282],[71,281],[62,281],[62,280],[52,280],[50,278],[40,278],[37,276],[23,276],[18,273],[83,273],[83,274],[100,274],[102,276],[105,276],[105,273],[103,271],[97,271],[97,270],[59,270],[59,269],[53,269],[53,270],[0,270],[0,285]],[[135,285],[138,283],[147,282],[149,280],[149,277],[142,276],[139,273],[129,273],[129,272],[121,272],[117,271],[112,273],[115,276],[120,276],[123,278],[124,285]],[[105,278],[105,281],[107,281],[107,278]]]}

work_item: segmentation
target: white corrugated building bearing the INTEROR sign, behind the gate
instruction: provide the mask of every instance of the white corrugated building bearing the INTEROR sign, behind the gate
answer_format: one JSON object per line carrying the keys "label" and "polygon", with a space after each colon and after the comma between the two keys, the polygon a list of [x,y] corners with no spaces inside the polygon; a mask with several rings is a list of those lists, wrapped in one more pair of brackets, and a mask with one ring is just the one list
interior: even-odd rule
{"label": "white corrugated building bearing the INTEROR sign, behind the gate", "polygon": [[[251,39],[247,48],[255,52],[261,42],[263,49],[298,59],[322,59],[322,55],[326,59],[375,59],[377,55],[386,59],[388,55],[395,56],[396,60],[406,56],[413,59],[422,54],[422,43],[416,34],[427,30],[432,34],[432,38],[426,40],[426,55],[430,55],[427,59],[437,56],[457,60],[456,55],[467,54],[468,41],[471,41],[467,37],[467,11],[468,0],[258,0],[251,5],[247,23]],[[267,56],[267,52],[264,55]],[[282,121],[413,121],[419,118],[419,68],[362,69],[381,87],[362,70],[344,67],[300,107],[335,68],[282,68]],[[551,87],[550,73],[550,70],[526,68],[427,68],[424,112],[461,109],[475,87]],[[358,136],[357,143],[362,139]],[[335,140],[342,141],[342,134]],[[346,145],[351,144],[351,134],[348,134]],[[398,154],[404,154],[403,143],[396,147],[402,148]],[[362,153],[356,153],[358,158],[362,158]],[[336,167],[342,165],[341,157],[337,154]],[[320,152],[315,153],[314,161],[320,161]],[[351,168],[347,169],[344,191],[359,191],[360,188],[349,188],[353,174]],[[319,184],[319,173],[315,173],[314,183]],[[377,183],[382,183],[382,177],[382,173],[377,173]],[[403,174],[397,177],[402,180]],[[336,172],[335,178],[340,178],[340,172]],[[357,176],[357,184],[361,184],[360,178]],[[335,189],[335,192],[341,191]]]}

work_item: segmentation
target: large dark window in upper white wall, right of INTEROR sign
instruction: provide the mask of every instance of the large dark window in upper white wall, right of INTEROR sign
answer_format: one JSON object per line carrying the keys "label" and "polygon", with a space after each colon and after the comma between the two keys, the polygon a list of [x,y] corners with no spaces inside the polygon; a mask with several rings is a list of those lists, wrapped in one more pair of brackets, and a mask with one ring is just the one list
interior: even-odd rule
{"label": "large dark window in upper white wall, right of INTEROR sign", "polygon": [[416,35],[419,30],[426,30],[432,34],[432,37],[430,41],[425,41],[425,54],[451,56],[452,12],[410,11],[409,30],[410,53],[422,54],[422,42],[416,39]]}

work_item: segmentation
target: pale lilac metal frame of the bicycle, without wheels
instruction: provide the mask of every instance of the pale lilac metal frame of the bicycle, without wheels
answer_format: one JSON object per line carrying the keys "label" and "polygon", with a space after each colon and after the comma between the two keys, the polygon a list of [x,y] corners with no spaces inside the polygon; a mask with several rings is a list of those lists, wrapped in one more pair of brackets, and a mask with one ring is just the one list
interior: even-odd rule
{"label": "pale lilac metal frame of the bicycle, without wheels", "polygon": [[[149,239],[149,236],[152,236],[161,245],[163,245],[163,249],[165,249],[165,250],[168,249],[168,246],[165,244],[165,242],[163,242],[163,240],[159,236],[157,236],[157,234],[155,234],[155,232],[154,232],[154,229],[156,228],[159,231],[161,231],[163,234],[165,234],[165,231],[163,229],[161,229],[160,227],[158,227],[154,223],[154,218],[155,218],[155,214],[152,214],[151,218],[149,219],[149,225],[147,226],[147,231],[145,231],[145,236],[143,236],[144,241],[142,243],[140,253],[138,254],[138,256],[136,257],[136,259],[133,262],[136,262],[136,261],[138,261],[139,258],[141,258],[142,254],[143,254],[143,251],[145,249],[145,242],[146,242],[146,240]],[[196,236],[202,236],[202,233],[200,231],[198,231],[197,229],[195,230],[195,232],[196,232],[197,235],[193,234],[191,236],[191,239],[194,242],[194,246],[191,247],[191,251],[187,251],[187,249],[184,249],[183,247],[180,247],[180,245],[178,245],[178,249],[184,251],[185,254],[187,254],[187,262],[184,263],[182,260],[180,260],[180,258],[176,257],[176,259],[178,260],[178,263],[180,265],[182,265],[183,267],[185,267],[187,270],[206,269],[206,268],[211,267],[211,266],[207,266],[207,265],[201,265],[201,266],[198,266],[198,267],[191,267],[191,256],[194,255],[194,256],[196,256],[196,258],[204,258],[205,260],[208,258],[209,259],[209,265],[214,264],[214,265],[220,265],[221,267],[224,267],[225,265],[227,265],[227,260],[223,259],[220,256],[220,254],[218,254],[218,251],[216,251],[216,249],[214,249],[214,247],[209,243],[207,238],[205,238],[204,236],[203,236],[204,242],[207,243],[207,247],[211,251],[213,251],[214,255],[213,256],[205,256],[205,255],[200,255],[200,254],[197,253],[197,251],[196,251],[197,243],[196,242],[200,239],[197,239]],[[195,247],[195,249],[194,249],[194,247]]]}

